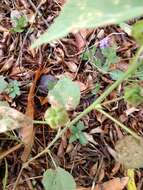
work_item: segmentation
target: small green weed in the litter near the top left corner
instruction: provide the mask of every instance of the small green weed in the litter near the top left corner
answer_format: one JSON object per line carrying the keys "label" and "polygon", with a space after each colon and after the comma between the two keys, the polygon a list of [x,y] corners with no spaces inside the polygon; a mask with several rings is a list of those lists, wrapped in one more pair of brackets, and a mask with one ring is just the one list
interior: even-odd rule
{"label": "small green weed in the litter near the top left corner", "polygon": [[12,32],[21,33],[24,31],[25,26],[27,25],[27,18],[23,15],[20,18],[15,18],[16,26],[11,29]]}

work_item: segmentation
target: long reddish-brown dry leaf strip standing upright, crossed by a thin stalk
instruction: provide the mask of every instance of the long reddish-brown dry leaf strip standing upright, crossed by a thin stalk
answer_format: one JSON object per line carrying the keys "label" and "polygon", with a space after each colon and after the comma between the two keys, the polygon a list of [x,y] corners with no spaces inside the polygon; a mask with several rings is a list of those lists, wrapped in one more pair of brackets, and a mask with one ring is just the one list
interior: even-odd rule
{"label": "long reddish-brown dry leaf strip standing upright, crossed by a thin stalk", "polygon": [[[31,85],[29,94],[28,94],[28,103],[27,103],[27,109],[26,109],[26,115],[30,117],[32,120],[34,119],[34,92],[37,80],[40,78],[41,73],[43,69],[40,67],[36,73],[35,73],[35,79]],[[21,159],[23,162],[26,162],[26,160],[29,157],[29,154],[31,152],[31,148],[34,142],[34,129],[33,125],[31,125],[28,129],[27,127],[24,127],[21,129],[20,134],[22,136],[23,142],[25,143],[25,148],[22,153]]]}

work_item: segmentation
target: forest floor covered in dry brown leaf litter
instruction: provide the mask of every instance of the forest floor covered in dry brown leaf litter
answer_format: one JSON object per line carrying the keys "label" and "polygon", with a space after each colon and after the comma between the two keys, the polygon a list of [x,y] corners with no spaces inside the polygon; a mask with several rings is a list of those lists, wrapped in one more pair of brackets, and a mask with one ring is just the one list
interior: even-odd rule
{"label": "forest floor covered in dry brown leaf litter", "polygon": [[[30,49],[31,43],[49,27],[54,18],[59,14],[62,1],[47,0],[39,6],[36,0],[1,0],[0,2],[0,75],[6,81],[16,80],[20,84],[20,94],[12,98],[7,93],[0,94],[0,100],[6,101],[10,107],[26,113],[30,110],[33,119],[43,120],[44,113],[49,107],[46,99],[47,89],[42,83],[42,77],[52,75],[59,79],[66,75],[74,80],[80,87],[81,100],[76,110],[69,112],[70,118],[75,118],[104,90],[114,82],[109,73],[100,72],[93,66],[87,52],[90,47],[99,49],[100,42],[108,37],[110,46],[115,46],[118,62],[110,65],[110,71],[127,70],[130,59],[136,52],[138,45],[134,39],[119,26],[107,26],[94,30],[81,30],[54,43],[43,45],[37,49]],[[28,23],[22,32],[12,32],[12,15],[24,14]],[[101,52],[97,56],[102,59]],[[83,58],[87,56],[87,58]],[[142,84],[142,81],[140,81]],[[122,98],[124,86],[122,83],[105,100],[113,103],[104,105],[114,118],[119,119],[136,133],[142,135],[143,108],[129,106]],[[31,93],[31,86],[34,92]],[[42,90],[39,89],[39,86]],[[33,96],[32,105],[29,103]],[[88,144],[81,145],[78,141],[69,143],[69,134],[59,139],[51,149],[57,165],[65,168],[73,175],[77,186],[92,187],[93,184],[103,184],[111,179],[126,177],[121,164],[115,160],[115,143],[125,134],[115,123],[102,114],[92,111],[82,118],[86,126],[84,132]],[[55,130],[47,125],[34,126],[34,144],[30,157],[41,152],[55,137]],[[17,139],[21,139],[20,130],[15,131]],[[21,155],[24,147],[18,146],[19,142],[12,139],[13,134],[0,134],[0,190],[2,179],[8,167],[7,187],[11,190],[17,179],[22,165]],[[18,190],[42,190],[41,183],[43,172],[53,168],[53,163],[47,154],[33,160],[23,170]],[[143,189],[143,172],[136,170],[136,184],[138,189]],[[122,188],[121,188],[122,189]],[[114,190],[118,190],[114,187]]]}

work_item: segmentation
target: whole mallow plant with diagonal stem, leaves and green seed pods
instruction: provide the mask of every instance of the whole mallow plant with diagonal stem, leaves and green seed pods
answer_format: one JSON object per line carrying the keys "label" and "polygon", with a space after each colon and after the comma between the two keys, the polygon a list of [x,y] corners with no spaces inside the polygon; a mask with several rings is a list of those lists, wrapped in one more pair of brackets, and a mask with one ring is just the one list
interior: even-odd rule
{"label": "whole mallow plant with diagonal stem, leaves and green seed pods", "polygon": [[[32,48],[36,48],[42,44],[50,43],[53,40],[62,38],[73,30],[79,30],[81,28],[95,28],[107,24],[120,24],[126,20],[138,17],[142,15],[142,13],[143,2],[140,0],[69,0],[61,10],[60,15],[55,19],[54,24],[52,24],[51,27],[43,35],[34,41]],[[107,87],[107,89],[100,95],[100,97],[98,97],[89,107],[87,107],[74,119],[70,120],[68,111],[76,109],[77,105],[80,102],[79,87],[69,78],[63,77],[55,84],[53,89],[49,90],[48,99],[51,107],[48,108],[44,115],[45,121],[34,121],[34,123],[48,124],[49,127],[57,131],[57,135],[44,150],[23,164],[14,189],[16,189],[23,169],[26,168],[28,164],[30,164],[33,160],[44,155],[45,153],[48,153],[55,168],[47,169],[44,172],[42,183],[45,190],[76,190],[74,178],[63,168],[57,166],[52,157],[50,149],[54,143],[67,131],[67,129],[71,129],[71,138],[69,139],[70,143],[74,142],[75,140],[79,140],[81,142],[84,142],[83,144],[86,144],[87,142],[82,135],[84,124],[81,123],[81,119],[92,110],[97,110],[98,112],[102,113],[107,118],[115,122],[128,134],[123,139],[121,139],[116,146],[117,160],[121,162],[125,168],[128,169],[127,174],[130,175],[130,173],[133,172],[134,168],[143,167],[143,150],[139,148],[143,145],[142,137],[125,126],[119,120],[113,118],[104,110],[103,107],[105,98],[124,80],[130,78],[136,70],[142,67],[142,30],[142,20],[137,22],[132,28],[132,35],[135,40],[137,40],[140,47],[137,50],[135,56],[130,61],[128,70],[122,73],[122,77],[118,77],[118,79],[115,80],[111,86]],[[107,52],[103,52],[103,54],[107,56],[106,53]],[[106,71],[108,71],[108,67],[106,68]],[[129,91],[128,89],[131,90]],[[137,106],[140,105],[143,102],[143,92],[142,89],[140,89],[140,86],[136,84],[133,88],[126,87],[124,100],[130,104],[135,105],[135,103],[137,103]],[[127,143],[124,143],[126,141],[128,141],[128,147],[126,147]],[[134,147],[134,150],[132,147]],[[125,154],[125,151],[127,150],[128,156]],[[134,160],[134,157],[132,156],[133,152],[136,153],[136,160]],[[127,164],[128,162],[126,161],[126,159],[129,160],[129,156],[131,164]],[[137,160],[139,160],[138,164],[132,164]]]}

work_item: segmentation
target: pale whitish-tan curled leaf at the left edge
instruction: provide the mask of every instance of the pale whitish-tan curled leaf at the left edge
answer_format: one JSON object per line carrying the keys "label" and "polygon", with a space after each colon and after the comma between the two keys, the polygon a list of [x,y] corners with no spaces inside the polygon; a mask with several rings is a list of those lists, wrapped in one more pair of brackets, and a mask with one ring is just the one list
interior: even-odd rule
{"label": "pale whitish-tan curled leaf at the left edge", "polygon": [[[0,106],[0,133],[32,125],[32,120],[19,111]],[[28,129],[27,129],[28,130]]]}

